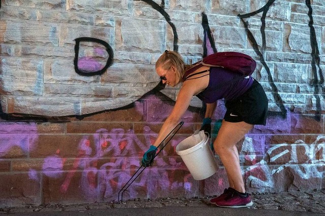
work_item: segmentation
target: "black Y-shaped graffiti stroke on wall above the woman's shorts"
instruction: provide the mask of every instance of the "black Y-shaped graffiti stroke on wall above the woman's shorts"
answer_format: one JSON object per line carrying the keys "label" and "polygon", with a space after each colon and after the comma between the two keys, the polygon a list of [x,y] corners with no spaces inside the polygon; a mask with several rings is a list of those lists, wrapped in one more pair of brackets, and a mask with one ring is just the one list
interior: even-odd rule
{"label": "black Y-shaped graffiti stroke on wall above the woman's shorts", "polygon": [[[249,14],[243,14],[243,15],[240,15],[239,14],[238,17],[241,19],[242,23],[245,26],[248,39],[251,41],[255,53],[259,56],[262,65],[265,67],[265,69],[267,71],[269,84],[270,84],[270,86],[272,88],[273,98],[274,98],[277,106],[279,106],[279,108],[281,110],[280,115],[284,119],[286,117],[287,111],[286,111],[286,109],[285,109],[285,107],[283,105],[283,100],[282,100],[281,96],[278,93],[278,88],[274,84],[274,81],[273,81],[273,78],[272,78],[272,75],[271,75],[270,68],[267,65],[267,63],[266,63],[266,61],[264,59],[263,53],[262,53],[262,52],[264,52],[264,49],[265,49],[265,46],[266,46],[266,41],[265,41],[265,17],[266,17],[266,14],[267,14],[270,6],[274,3],[274,1],[275,0],[269,1],[263,8],[255,11],[255,12],[252,12],[252,13],[249,13]],[[262,38],[263,38],[262,52],[258,49],[257,42],[256,42],[253,34],[251,33],[251,31],[248,29],[248,23],[245,22],[244,19],[243,19],[243,18],[250,17],[251,15],[255,15],[255,14],[259,13],[259,12],[263,12],[263,15],[262,15],[262,18],[261,18],[261,20],[262,20],[261,34],[262,34]],[[278,112],[269,112],[269,114],[271,114],[271,115],[277,115]]]}

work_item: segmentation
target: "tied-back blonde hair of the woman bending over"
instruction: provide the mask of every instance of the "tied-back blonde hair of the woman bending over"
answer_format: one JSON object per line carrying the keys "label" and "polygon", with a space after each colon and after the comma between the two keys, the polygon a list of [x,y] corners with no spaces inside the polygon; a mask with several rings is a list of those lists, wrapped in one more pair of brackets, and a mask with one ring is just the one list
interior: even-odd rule
{"label": "tied-back blonde hair of the woman bending over", "polygon": [[165,70],[169,69],[171,66],[176,67],[176,84],[183,80],[186,67],[181,55],[175,51],[165,50],[163,55],[161,55],[156,62],[156,69],[161,67]]}

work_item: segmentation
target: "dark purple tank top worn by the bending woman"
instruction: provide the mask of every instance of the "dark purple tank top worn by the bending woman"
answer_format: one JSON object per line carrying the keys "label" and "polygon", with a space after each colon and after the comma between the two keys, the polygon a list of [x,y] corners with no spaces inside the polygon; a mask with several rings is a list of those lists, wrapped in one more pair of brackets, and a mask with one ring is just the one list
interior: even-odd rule
{"label": "dark purple tank top worn by the bending woman", "polygon": [[[245,93],[253,83],[253,78],[251,76],[247,79],[236,79],[242,77],[242,75],[222,67],[210,67],[209,76],[208,87],[197,94],[197,97],[206,103],[212,103],[222,98],[231,101]],[[235,79],[235,81],[231,81],[233,79]],[[224,83],[226,84],[224,85]]]}

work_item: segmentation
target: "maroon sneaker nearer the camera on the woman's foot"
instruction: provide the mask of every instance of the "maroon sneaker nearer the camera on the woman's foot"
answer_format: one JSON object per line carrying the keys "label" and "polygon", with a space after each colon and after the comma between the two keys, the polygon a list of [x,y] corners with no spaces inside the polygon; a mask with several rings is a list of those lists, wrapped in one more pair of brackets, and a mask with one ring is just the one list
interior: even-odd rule
{"label": "maroon sneaker nearer the camera on the woman's foot", "polygon": [[250,195],[246,193],[246,196],[233,190],[228,196],[224,196],[223,199],[218,199],[214,204],[219,207],[226,208],[245,208],[253,205],[250,199]]}

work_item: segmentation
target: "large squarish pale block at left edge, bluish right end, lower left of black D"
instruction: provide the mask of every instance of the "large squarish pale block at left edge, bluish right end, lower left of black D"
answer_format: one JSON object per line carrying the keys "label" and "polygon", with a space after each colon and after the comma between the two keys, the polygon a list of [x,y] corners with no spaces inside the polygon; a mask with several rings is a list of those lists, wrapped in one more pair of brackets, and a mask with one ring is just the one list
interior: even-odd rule
{"label": "large squarish pale block at left edge, bluish right end, lower left of black D", "polygon": [[43,60],[3,58],[0,90],[7,95],[42,95]]}

